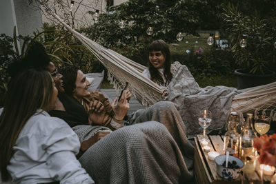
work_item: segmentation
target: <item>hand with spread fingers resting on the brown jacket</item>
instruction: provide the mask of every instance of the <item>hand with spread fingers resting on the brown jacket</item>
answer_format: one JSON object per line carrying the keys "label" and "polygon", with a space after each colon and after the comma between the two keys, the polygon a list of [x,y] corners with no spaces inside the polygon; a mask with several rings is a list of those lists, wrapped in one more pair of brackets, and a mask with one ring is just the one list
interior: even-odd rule
{"label": "hand with spread fingers resting on the brown jacket", "polygon": [[89,104],[88,121],[90,125],[103,125],[106,110],[100,101],[91,101]]}

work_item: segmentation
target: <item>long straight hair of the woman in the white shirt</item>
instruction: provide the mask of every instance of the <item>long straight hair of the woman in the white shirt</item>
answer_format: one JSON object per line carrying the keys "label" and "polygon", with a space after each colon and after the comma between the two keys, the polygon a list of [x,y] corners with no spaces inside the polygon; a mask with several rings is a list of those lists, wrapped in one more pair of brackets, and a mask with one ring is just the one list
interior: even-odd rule
{"label": "long straight hair of the woman in the white shirt", "polygon": [[0,170],[3,181],[10,178],[7,165],[21,130],[37,110],[48,108],[53,90],[52,77],[47,71],[23,70],[10,79],[0,116]]}

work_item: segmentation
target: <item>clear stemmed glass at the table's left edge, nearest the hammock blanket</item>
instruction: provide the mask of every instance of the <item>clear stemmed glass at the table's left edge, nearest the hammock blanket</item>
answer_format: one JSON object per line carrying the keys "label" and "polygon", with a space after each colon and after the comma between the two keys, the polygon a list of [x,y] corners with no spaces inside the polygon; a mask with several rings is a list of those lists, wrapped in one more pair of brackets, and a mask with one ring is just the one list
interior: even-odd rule
{"label": "clear stemmed glass at the table's left edge, nearest the hammock blanket", "polygon": [[199,112],[199,125],[203,128],[203,139],[201,139],[202,144],[208,143],[208,139],[206,139],[206,128],[210,125],[212,121],[212,113],[210,110],[201,110]]}

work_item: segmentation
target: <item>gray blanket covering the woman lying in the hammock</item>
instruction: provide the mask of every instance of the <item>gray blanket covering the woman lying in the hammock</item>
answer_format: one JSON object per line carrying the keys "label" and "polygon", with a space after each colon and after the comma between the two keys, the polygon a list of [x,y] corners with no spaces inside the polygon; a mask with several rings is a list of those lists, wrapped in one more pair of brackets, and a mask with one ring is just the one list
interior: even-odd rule
{"label": "gray blanket covering the woman lying in the hammock", "polygon": [[207,134],[213,130],[221,130],[228,119],[235,94],[236,88],[226,86],[200,88],[186,65],[179,65],[168,86],[166,100],[179,105],[179,114],[186,125],[186,136],[190,139],[203,132],[198,123],[200,110],[210,110],[213,115],[211,125],[206,130]]}

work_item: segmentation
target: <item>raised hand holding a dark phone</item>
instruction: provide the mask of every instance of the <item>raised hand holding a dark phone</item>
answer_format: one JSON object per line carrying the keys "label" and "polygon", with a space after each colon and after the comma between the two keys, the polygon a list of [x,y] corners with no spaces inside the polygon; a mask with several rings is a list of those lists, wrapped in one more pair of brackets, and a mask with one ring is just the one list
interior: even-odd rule
{"label": "raised hand holding a dark phone", "polygon": [[[116,105],[116,102],[117,102],[118,98],[116,98],[111,103],[111,107],[114,112],[113,118],[117,123],[121,123],[121,121],[123,121],[123,119],[124,119],[124,116],[126,116],[126,114],[128,113],[128,110],[129,110],[129,103],[128,103],[128,99],[127,99],[128,92],[129,92],[128,90],[124,90],[123,94],[121,95],[121,99],[117,103],[117,105]],[[130,93],[129,97],[131,97],[131,93]]]}

